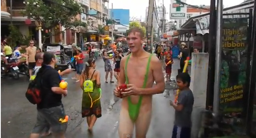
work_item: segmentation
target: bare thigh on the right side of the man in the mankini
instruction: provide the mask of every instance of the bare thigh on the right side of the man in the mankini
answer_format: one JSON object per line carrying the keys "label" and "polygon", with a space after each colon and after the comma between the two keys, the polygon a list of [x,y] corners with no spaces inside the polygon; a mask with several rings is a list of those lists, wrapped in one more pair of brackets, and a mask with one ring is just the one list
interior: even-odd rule
{"label": "bare thigh on the right side of the man in the mankini", "polygon": [[147,130],[151,122],[152,111],[144,111],[139,113],[139,116],[135,122],[135,134],[136,138],[146,138]]}

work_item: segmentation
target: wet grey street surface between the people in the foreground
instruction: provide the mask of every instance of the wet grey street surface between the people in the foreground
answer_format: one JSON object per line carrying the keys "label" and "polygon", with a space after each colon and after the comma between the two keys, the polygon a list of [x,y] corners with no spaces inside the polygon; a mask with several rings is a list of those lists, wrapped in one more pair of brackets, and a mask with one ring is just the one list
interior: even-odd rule
{"label": "wet grey street surface between the people in the foreground", "polygon": [[[121,100],[109,108],[113,99],[115,84],[105,83],[103,60],[96,61],[96,68],[101,72],[101,107],[102,117],[97,119],[91,138],[118,138],[118,120]],[[175,60],[172,77],[177,75],[179,60]],[[82,91],[79,83],[71,80],[75,72],[64,76],[68,82],[68,95],[63,97],[64,108],[69,116],[66,138],[87,138],[86,119],[81,118]],[[114,77],[113,77],[114,78]],[[28,86],[28,78],[20,80],[1,78],[1,136],[2,138],[28,138],[30,131],[36,123],[36,105],[32,105],[25,97]],[[108,80],[109,81],[109,80]],[[169,106],[169,100],[173,100],[173,91],[170,97],[164,97],[165,93],[153,96],[153,115],[147,138],[170,138],[173,129],[174,109]]]}

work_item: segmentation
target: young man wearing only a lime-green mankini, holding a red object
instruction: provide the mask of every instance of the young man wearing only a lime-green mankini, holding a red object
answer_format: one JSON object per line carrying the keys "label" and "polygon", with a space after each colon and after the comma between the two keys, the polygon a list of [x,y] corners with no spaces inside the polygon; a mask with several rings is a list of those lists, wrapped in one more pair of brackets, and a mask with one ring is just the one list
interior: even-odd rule
{"label": "young man wearing only a lime-green mankini, holding a red object", "polygon": [[[138,27],[130,29],[127,43],[131,54],[121,59],[118,86],[125,84],[128,80],[128,89],[120,92],[119,87],[116,87],[114,90],[117,97],[123,98],[119,117],[120,138],[126,138],[127,134],[132,134],[134,126],[136,138],[146,138],[151,121],[152,95],[163,93],[165,89],[162,64],[155,55],[144,51],[143,37],[144,33]],[[156,85],[153,86],[154,82]]]}

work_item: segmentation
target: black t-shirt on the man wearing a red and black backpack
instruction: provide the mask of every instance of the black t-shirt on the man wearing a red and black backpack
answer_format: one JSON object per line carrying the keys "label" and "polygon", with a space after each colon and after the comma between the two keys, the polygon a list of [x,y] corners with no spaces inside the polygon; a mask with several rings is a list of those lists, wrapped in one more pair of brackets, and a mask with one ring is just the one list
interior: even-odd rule
{"label": "black t-shirt on the man wearing a red and black backpack", "polygon": [[60,74],[54,68],[44,68],[42,76],[42,101],[37,105],[38,109],[51,108],[62,105],[62,94],[52,91],[52,87],[59,87],[61,82]]}

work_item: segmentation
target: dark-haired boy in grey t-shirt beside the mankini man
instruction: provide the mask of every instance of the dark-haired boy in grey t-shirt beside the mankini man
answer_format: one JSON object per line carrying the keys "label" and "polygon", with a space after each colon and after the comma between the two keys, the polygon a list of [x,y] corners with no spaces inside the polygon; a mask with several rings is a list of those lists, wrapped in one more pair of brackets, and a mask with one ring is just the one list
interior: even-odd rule
{"label": "dark-haired boy in grey t-shirt beside the mankini man", "polygon": [[191,113],[194,104],[194,96],[189,89],[191,78],[188,73],[180,73],[176,76],[179,86],[177,103],[170,101],[175,109],[175,121],[172,138],[190,138],[191,136]]}

